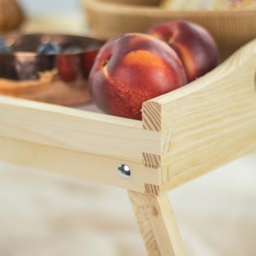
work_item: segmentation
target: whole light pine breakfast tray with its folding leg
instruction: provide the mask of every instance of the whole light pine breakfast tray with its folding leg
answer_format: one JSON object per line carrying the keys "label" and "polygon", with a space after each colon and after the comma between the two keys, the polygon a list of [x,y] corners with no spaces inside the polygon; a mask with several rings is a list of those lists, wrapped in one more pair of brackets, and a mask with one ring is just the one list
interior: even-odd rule
{"label": "whole light pine breakfast tray with its folding leg", "polygon": [[142,121],[0,96],[0,159],[127,189],[148,255],[184,255],[167,192],[256,150],[255,73],[256,39]]}

